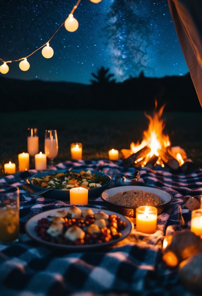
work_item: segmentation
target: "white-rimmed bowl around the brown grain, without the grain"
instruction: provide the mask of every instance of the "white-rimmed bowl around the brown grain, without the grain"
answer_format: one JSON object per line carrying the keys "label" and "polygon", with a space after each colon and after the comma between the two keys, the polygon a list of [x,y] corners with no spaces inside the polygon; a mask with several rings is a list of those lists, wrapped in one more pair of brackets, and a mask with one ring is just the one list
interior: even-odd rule
{"label": "white-rimmed bowl around the brown grain, without the grain", "polygon": [[118,186],[110,189],[106,189],[101,193],[101,198],[107,204],[107,207],[113,211],[121,213],[122,215],[126,215],[128,217],[135,217],[136,207],[120,205],[114,202],[109,201],[109,197],[123,191],[128,190],[143,190],[144,192],[155,193],[159,197],[161,197],[164,202],[161,205],[157,205],[158,214],[162,213],[162,211],[166,208],[167,205],[172,201],[172,195],[162,189],[158,189],[155,187],[146,187],[146,186]]}

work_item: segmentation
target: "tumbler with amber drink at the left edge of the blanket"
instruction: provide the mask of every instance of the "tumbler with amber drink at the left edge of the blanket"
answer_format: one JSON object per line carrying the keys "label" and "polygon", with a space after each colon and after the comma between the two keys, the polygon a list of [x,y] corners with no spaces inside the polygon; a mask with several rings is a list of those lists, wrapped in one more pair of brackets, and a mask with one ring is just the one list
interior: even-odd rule
{"label": "tumbler with amber drink at the left edge of the blanket", "polygon": [[19,200],[17,186],[0,185],[0,243],[13,244],[19,241]]}

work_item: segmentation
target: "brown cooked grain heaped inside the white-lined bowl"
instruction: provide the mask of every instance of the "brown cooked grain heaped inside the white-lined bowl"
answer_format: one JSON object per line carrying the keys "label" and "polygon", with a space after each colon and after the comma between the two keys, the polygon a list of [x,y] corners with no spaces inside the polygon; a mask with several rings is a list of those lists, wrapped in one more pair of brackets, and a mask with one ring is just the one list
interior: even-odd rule
{"label": "brown cooked grain heaped inside the white-lined bowl", "polygon": [[131,207],[139,207],[141,205],[156,206],[164,203],[164,200],[152,192],[145,192],[143,190],[125,190],[118,192],[109,197],[109,201]]}

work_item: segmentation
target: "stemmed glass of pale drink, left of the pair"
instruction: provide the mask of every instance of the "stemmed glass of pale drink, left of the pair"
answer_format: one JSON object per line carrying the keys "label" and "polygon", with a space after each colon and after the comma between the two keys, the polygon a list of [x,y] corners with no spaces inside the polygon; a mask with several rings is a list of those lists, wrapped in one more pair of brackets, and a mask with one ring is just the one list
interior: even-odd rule
{"label": "stemmed glass of pale drink, left of the pair", "polygon": [[32,166],[34,167],[34,155],[39,153],[39,137],[37,128],[28,128],[27,151],[31,156]]}

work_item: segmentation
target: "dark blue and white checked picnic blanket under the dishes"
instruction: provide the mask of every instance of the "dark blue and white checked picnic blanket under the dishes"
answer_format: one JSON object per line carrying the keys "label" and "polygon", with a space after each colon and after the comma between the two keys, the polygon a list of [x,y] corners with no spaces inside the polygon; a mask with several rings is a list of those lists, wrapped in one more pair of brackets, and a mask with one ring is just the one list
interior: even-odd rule
{"label": "dark blue and white checked picnic blanket under the dishes", "polygon": [[[121,161],[66,161],[52,168],[69,169],[82,166],[103,171],[114,168],[122,173],[134,173],[137,168],[124,168]],[[173,173],[156,166],[138,168],[138,184],[169,192],[173,201],[158,215],[155,234],[143,234],[135,229],[123,241],[104,249],[69,252],[47,247],[25,234],[25,222],[37,213],[69,206],[64,200],[42,196],[31,197],[22,188],[26,178],[37,173],[28,170],[0,178],[0,184],[20,188],[20,242],[0,244],[1,296],[57,296],[57,295],[177,295],[191,296],[179,281],[177,268],[170,270],[161,260],[163,237],[190,227],[191,212],[183,207],[185,197],[199,201],[202,194],[202,169],[193,173]],[[114,186],[114,177],[110,187]],[[98,197],[89,200],[89,207],[107,209]]]}

